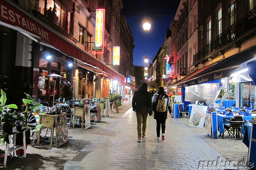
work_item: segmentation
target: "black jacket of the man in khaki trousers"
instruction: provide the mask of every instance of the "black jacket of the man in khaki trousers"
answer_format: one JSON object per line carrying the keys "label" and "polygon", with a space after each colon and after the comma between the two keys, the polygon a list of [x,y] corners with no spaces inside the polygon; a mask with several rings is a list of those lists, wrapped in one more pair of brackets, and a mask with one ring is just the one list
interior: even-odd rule
{"label": "black jacket of the man in khaki trousers", "polygon": [[132,97],[132,110],[152,115],[152,96],[147,87],[139,87]]}

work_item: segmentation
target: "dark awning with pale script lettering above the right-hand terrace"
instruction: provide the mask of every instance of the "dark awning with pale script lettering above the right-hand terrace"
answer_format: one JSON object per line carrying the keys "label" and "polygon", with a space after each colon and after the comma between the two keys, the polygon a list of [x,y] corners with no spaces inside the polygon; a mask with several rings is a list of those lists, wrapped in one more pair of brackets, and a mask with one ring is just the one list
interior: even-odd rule
{"label": "dark awning with pale script lettering above the right-hand terrace", "polygon": [[191,74],[191,76],[187,76],[188,78],[185,77],[186,79],[181,79],[180,82],[175,82],[171,86],[177,85],[178,88],[181,88],[230,77],[236,69],[240,68],[241,64],[255,60],[255,56],[256,46],[222,59],[218,63],[213,63],[213,65],[206,69],[202,68],[204,70],[200,71],[200,69],[198,72],[195,72],[195,74],[192,73],[193,75]]}

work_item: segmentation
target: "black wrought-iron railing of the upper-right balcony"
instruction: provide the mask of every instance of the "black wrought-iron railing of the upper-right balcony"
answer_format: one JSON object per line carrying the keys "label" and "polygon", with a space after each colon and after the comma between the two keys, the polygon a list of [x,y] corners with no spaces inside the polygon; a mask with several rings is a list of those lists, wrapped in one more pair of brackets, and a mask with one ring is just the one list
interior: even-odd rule
{"label": "black wrought-iron railing of the upper-right balcony", "polygon": [[244,35],[244,33],[255,29],[256,27],[256,8],[252,9],[243,18],[239,19],[235,24],[230,26],[225,32],[221,33],[209,44],[204,46],[193,56],[193,64],[199,62],[205,56],[213,53],[214,51],[222,48],[228,43],[234,41],[238,37]]}

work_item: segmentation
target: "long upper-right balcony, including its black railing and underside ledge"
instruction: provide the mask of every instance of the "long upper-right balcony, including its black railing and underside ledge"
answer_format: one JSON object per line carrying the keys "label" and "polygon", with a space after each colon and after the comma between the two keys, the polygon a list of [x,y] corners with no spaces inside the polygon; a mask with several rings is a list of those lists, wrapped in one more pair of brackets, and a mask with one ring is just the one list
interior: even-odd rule
{"label": "long upper-right balcony, including its black railing and underside ledge", "polygon": [[219,52],[234,47],[235,43],[241,43],[255,35],[256,8],[252,9],[243,18],[230,26],[225,32],[213,39],[193,56],[193,65],[214,58]]}

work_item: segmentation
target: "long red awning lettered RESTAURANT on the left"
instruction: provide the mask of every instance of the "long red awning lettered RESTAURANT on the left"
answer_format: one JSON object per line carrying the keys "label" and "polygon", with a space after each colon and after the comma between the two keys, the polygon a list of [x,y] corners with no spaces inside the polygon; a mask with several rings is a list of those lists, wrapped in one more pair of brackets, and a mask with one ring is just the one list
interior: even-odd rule
{"label": "long red awning lettered RESTAURANT on the left", "polygon": [[105,63],[93,57],[83,49],[77,47],[74,41],[70,41],[63,36],[58,35],[58,33],[52,32],[52,28],[48,28],[48,26],[46,26],[43,22],[35,18],[32,14],[21,8],[19,5],[2,0],[0,20],[10,24],[11,26],[17,26],[23,29],[24,32],[29,33],[40,41],[48,43],[55,49],[68,56],[100,68],[102,71],[120,79],[123,81],[122,83],[124,83],[124,76],[112,70]]}

